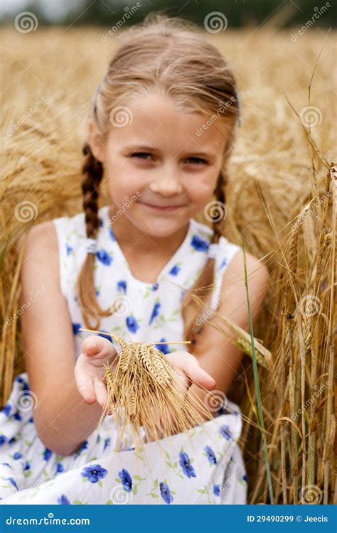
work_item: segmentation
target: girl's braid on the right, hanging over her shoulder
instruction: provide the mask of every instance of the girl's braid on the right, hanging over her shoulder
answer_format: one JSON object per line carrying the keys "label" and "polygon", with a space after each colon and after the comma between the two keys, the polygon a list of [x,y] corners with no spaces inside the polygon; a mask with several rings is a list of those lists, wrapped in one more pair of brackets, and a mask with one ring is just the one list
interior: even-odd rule
{"label": "girl's braid on the right, hanging over her shoulder", "polygon": [[[225,171],[221,171],[218,177],[218,181],[215,186],[215,198],[219,203],[223,204],[225,208],[225,185],[228,182],[228,176]],[[221,208],[220,208],[221,210]],[[225,217],[221,216],[220,220],[217,215],[214,217],[216,220],[213,222],[213,243],[218,243],[220,237],[223,235],[223,226],[225,222]],[[193,298],[193,295],[198,296],[203,300],[204,308],[207,306],[208,300],[210,299],[210,294],[213,289],[214,283],[214,267],[215,259],[208,258],[206,264],[201,272],[198,279],[189,289],[183,298],[182,303],[182,316],[184,323],[184,340],[190,340],[192,345],[196,344],[196,338],[200,331],[200,326],[198,326],[198,318],[200,316],[200,308],[196,308],[196,300]],[[193,350],[193,348],[192,348]]]}

